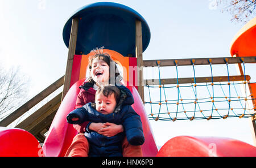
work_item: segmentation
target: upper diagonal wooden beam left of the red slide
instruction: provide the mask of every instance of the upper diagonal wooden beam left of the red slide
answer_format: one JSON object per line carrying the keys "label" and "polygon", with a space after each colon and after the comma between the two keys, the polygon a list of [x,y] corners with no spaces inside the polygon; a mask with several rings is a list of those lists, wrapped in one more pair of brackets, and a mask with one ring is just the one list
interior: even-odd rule
{"label": "upper diagonal wooden beam left of the red slide", "polygon": [[42,92],[37,94],[35,97],[31,98],[31,100],[26,102],[24,105],[20,106],[13,113],[11,113],[6,118],[1,120],[0,126],[7,127],[10,123],[14,122],[15,119],[19,118],[22,114],[26,113],[28,110],[30,110],[32,107],[34,107],[40,101],[42,101],[44,98],[49,96],[49,94],[56,91],[57,88],[61,87],[63,85],[63,81],[64,81],[64,76],[60,77],[60,79],[55,81],[55,83],[51,84],[49,87],[44,89]]}

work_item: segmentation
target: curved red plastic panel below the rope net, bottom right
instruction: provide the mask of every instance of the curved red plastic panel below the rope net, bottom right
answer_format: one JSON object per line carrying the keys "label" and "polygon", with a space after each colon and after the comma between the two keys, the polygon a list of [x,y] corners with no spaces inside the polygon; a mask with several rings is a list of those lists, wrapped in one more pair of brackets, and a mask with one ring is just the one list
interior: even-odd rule
{"label": "curved red plastic panel below the rope net, bottom right", "polygon": [[224,137],[177,136],[167,141],[156,156],[256,156],[256,148]]}

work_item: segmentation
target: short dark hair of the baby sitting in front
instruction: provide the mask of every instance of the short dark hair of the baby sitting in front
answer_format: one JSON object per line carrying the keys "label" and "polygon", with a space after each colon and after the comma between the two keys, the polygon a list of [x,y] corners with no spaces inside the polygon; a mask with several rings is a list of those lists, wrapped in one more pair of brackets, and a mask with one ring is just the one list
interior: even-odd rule
{"label": "short dark hair of the baby sitting in front", "polygon": [[103,87],[99,87],[97,89],[97,92],[96,92],[96,95],[97,94],[100,94],[102,93],[104,96],[106,97],[109,97],[111,96],[112,94],[114,94],[114,97],[115,97],[115,101],[119,102],[119,99],[120,99],[120,90],[116,87],[116,86],[112,86],[112,85],[105,85]]}

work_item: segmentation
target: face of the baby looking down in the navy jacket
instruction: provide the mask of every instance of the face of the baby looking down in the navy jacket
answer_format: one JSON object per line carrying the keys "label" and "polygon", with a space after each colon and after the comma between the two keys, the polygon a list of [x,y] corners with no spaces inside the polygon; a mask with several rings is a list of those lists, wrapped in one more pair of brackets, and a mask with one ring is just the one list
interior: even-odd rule
{"label": "face of the baby looking down in the navy jacket", "polygon": [[117,102],[115,101],[114,94],[110,94],[109,97],[104,94],[96,94],[95,97],[96,110],[102,114],[111,114],[114,112]]}

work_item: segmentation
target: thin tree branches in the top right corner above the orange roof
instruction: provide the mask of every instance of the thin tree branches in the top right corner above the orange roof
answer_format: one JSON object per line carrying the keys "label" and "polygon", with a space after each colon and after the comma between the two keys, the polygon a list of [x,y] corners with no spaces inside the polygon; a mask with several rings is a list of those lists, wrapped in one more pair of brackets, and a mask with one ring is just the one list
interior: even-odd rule
{"label": "thin tree branches in the top right corner above the orange roof", "polygon": [[230,12],[231,21],[247,22],[256,16],[256,0],[213,0],[212,6],[221,7],[222,12]]}

